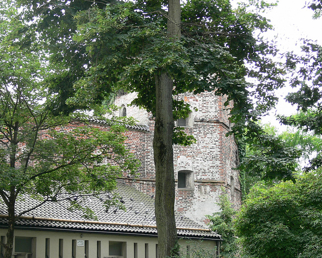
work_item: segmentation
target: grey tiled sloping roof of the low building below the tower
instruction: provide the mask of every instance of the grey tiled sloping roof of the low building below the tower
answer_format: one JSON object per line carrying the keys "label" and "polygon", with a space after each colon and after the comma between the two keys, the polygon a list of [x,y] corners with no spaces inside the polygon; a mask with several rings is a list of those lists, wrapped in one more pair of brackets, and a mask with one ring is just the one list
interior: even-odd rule
{"label": "grey tiled sloping roof of the low building below the tower", "polygon": [[[140,191],[117,183],[114,191],[124,203],[126,210],[110,207],[106,210],[102,198],[87,197],[86,205],[91,208],[97,219],[95,221],[85,220],[79,210],[68,210],[69,201],[59,203],[47,202],[42,206],[24,214],[23,219],[16,222],[16,228],[43,228],[84,230],[101,233],[156,235],[154,200]],[[101,200],[100,200],[101,199]],[[37,204],[30,198],[17,201],[16,214],[28,207]],[[6,214],[6,206],[0,203],[0,214]],[[29,217],[29,218],[28,218]],[[6,217],[0,217],[0,226],[6,225]],[[196,222],[176,214],[176,224],[179,237],[220,239],[220,236]]]}

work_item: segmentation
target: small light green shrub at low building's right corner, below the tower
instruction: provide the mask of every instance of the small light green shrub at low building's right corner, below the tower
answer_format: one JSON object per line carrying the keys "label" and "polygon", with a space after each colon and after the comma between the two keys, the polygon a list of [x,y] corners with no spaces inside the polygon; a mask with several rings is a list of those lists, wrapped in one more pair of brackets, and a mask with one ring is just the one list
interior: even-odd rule
{"label": "small light green shrub at low building's right corner, below the tower", "polygon": [[219,207],[219,212],[207,215],[207,218],[210,219],[210,229],[220,234],[223,240],[220,248],[221,257],[236,257],[239,251],[233,225],[236,211],[231,207],[227,194],[219,196]]}

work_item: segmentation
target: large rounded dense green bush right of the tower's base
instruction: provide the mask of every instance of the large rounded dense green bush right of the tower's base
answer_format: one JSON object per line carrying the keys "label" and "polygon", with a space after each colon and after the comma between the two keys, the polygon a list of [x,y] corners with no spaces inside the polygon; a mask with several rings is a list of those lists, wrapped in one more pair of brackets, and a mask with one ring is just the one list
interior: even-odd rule
{"label": "large rounded dense green bush right of the tower's base", "polygon": [[257,184],[236,219],[244,252],[256,258],[322,257],[321,170],[296,183]]}

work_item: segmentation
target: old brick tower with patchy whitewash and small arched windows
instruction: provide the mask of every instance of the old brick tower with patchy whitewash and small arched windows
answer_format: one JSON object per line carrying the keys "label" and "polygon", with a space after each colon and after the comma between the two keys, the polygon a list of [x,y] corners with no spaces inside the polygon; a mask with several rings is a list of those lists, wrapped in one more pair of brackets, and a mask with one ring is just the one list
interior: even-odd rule
{"label": "old brick tower with patchy whitewash and small arched windows", "polygon": [[[127,145],[141,161],[139,176],[125,178],[125,182],[141,192],[154,195],[155,170],[153,162],[154,119],[143,109],[131,106],[133,94],[119,96],[115,104],[120,107],[120,116],[133,117],[137,126],[126,132]],[[196,138],[191,146],[174,146],[174,169],[176,181],[176,210],[199,223],[207,222],[205,215],[219,210],[217,205],[223,189],[230,197],[232,207],[241,204],[237,145],[230,130],[229,106],[226,98],[214,92],[181,95],[191,109],[187,119],[176,121]],[[197,111],[194,111],[196,108]]]}

